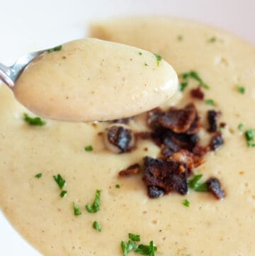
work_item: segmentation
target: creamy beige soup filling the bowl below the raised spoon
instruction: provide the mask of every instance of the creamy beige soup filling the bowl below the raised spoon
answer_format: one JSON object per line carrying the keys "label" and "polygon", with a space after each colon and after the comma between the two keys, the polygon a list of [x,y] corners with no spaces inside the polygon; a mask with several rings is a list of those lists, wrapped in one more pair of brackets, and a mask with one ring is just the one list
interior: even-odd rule
{"label": "creamy beige soup filling the bowl below the raised spoon", "polygon": [[[203,174],[203,179],[220,179],[225,199],[192,190],[186,196],[170,193],[149,199],[140,174],[120,178],[118,172],[141,163],[145,156],[157,157],[157,145],[141,140],[136,150],[116,155],[106,149],[101,136],[107,123],[47,121],[45,126],[29,126],[22,118],[26,108],[1,86],[0,204],[4,214],[47,256],[123,255],[120,242],[128,241],[128,233],[139,234],[145,245],[153,240],[155,255],[254,256],[255,148],[247,147],[238,128],[240,123],[244,130],[255,128],[254,46],[221,30],[171,18],[94,23],[91,36],[157,52],[179,74],[196,70],[210,85],[204,90],[205,100],[212,99],[216,106],[191,99],[195,81],[169,105],[194,101],[201,121],[208,109],[222,111],[221,120],[227,123],[222,131],[225,143],[209,152],[193,172]],[[238,86],[244,87],[243,94]],[[129,126],[145,130],[145,116],[136,117]],[[36,174],[42,176],[38,179]],[[57,174],[66,180],[63,198],[52,177]],[[93,203],[96,189],[101,190],[101,208],[89,213],[85,205]],[[189,207],[183,206],[183,199],[190,202]],[[79,216],[74,216],[74,203]],[[94,221],[101,225],[101,232],[92,227]]]}

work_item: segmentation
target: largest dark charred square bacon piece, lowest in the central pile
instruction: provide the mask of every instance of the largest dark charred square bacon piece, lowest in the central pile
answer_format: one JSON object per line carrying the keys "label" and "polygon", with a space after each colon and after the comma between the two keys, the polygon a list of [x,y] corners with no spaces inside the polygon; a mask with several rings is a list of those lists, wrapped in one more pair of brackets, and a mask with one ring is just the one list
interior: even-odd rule
{"label": "largest dark charred square bacon piece, lowest in the central pile", "polygon": [[188,170],[182,162],[166,161],[163,159],[154,159],[145,157],[145,170],[142,180],[145,182],[148,190],[148,196],[156,198],[171,191],[179,194],[187,194]]}

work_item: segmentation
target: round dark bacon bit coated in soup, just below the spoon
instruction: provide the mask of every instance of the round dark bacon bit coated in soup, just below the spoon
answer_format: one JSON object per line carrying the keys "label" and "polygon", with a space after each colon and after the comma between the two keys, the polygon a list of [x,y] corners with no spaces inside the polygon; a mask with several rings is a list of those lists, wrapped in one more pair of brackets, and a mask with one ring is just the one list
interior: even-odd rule
{"label": "round dark bacon bit coated in soup, just below the spoon", "polygon": [[113,152],[129,152],[135,148],[135,135],[125,126],[111,126],[106,130],[106,146]]}

